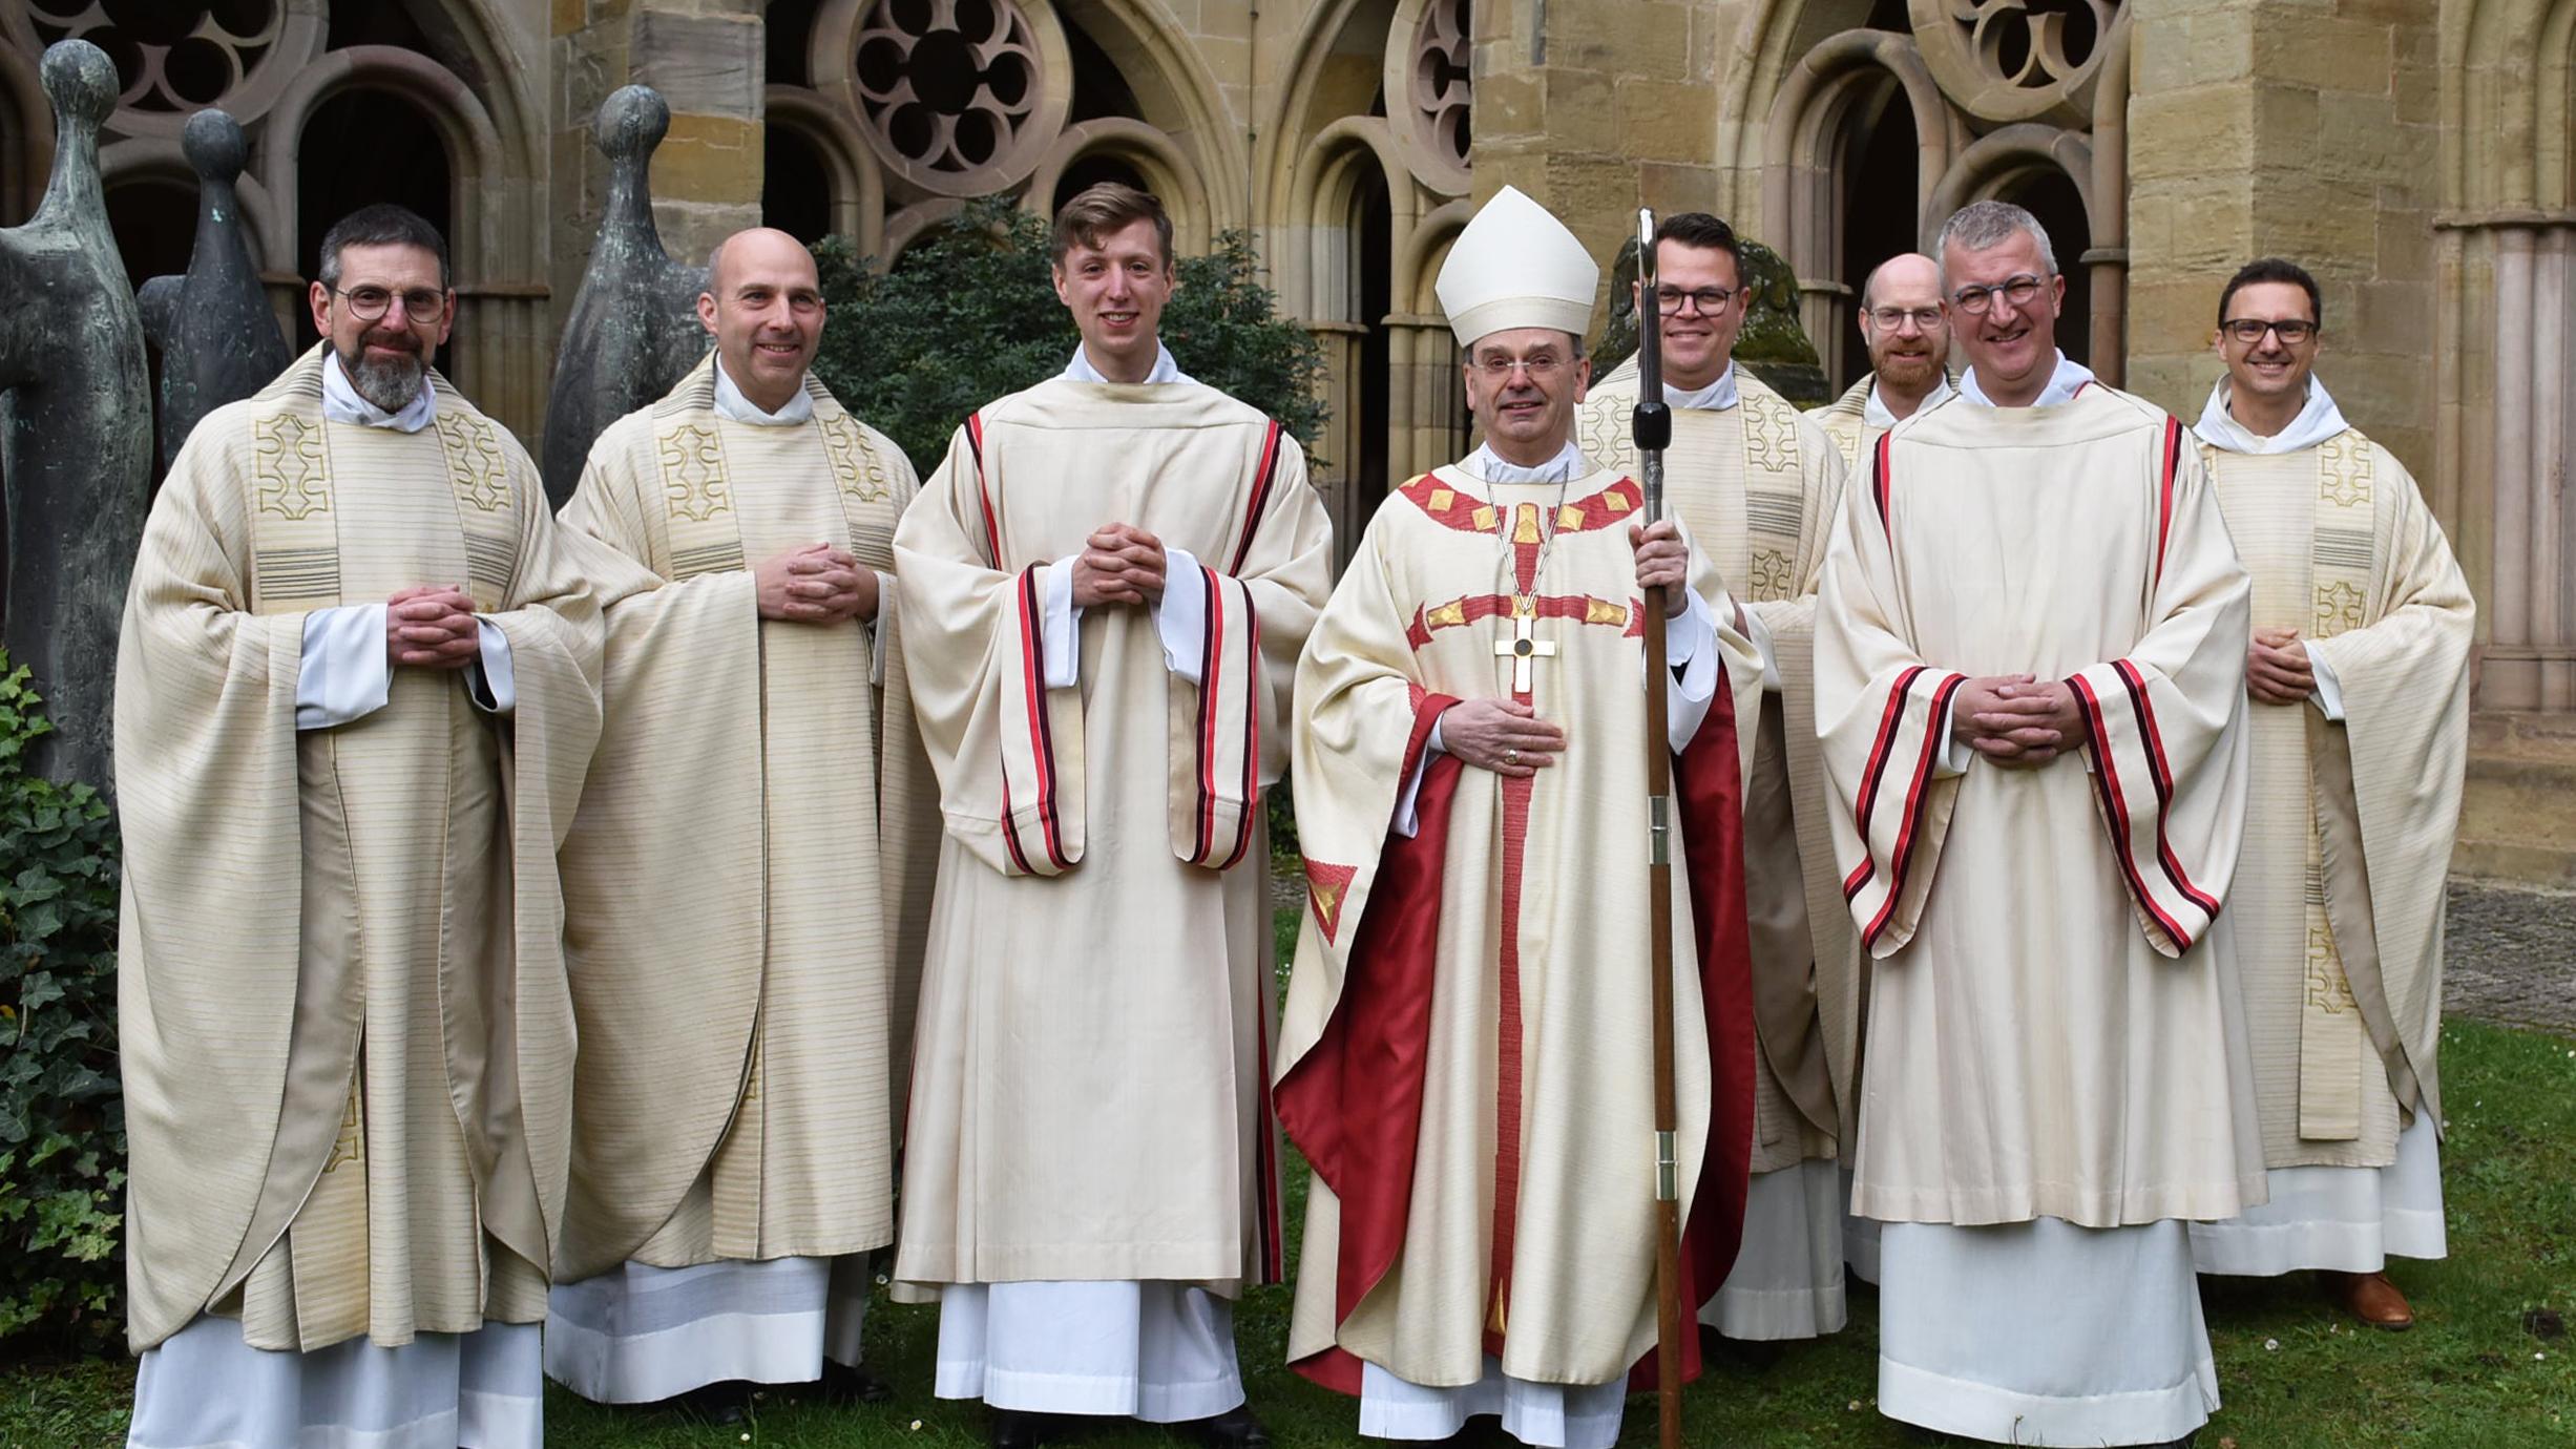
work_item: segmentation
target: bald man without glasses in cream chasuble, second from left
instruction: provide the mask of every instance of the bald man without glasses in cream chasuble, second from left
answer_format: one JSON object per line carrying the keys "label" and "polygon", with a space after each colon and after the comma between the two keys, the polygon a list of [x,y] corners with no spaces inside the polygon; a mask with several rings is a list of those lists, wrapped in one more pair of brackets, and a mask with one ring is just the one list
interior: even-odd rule
{"label": "bald man without glasses in cream chasuble, second from left", "polygon": [[[752,1385],[886,1398],[860,1318],[894,1241],[935,798],[894,649],[917,479],[809,373],[814,257],[729,237],[698,317],[708,358],[600,435],[562,520],[675,589],[608,613],[564,844],[582,1055],[546,1372],[732,1418]],[[724,602],[629,636],[667,592]]]}

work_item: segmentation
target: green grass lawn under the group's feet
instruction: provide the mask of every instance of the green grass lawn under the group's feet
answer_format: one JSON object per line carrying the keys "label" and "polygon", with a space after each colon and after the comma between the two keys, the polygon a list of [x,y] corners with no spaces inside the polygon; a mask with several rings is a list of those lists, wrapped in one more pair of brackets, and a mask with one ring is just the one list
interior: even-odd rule
{"label": "green grass lawn under the group's feet", "polygon": [[[2205,1287],[2226,1408],[2200,1449],[2566,1449],[2576,1444],[2576,1336],[2540,1336],[2537,1310],[2576,1318],[2576,1042],[2452,1022],[2442,1060],[2450,1096],[2445,1192],[2450,1259],[2401,1264],[2411,1333],[2354,1331],[2308,1287],[2213,1279]],[[1293,1184],[1293,1199],[1303,1181]],[[1288,1215],[1298,1220],[1296,1212]],[[1873,1408],[1878,1305],[1852,1295],[1852,1325],[1801,1343],[1767,1367],[1718,1361],[1690,1387],[1685,1423],[1698,1446],[1922,1446],[1932,1436]],[[1285,1367],[1288,1292],[1257,1289],[1236,1320],[1255,1408],[1283,1449],[1350,1444],[1352,1400]],[[667,1413],[605,1410],[546,1398],[546,1441],[564,1449],[719,1449],[726,1444],[881,1449],[984,1441],[976,1405],[930,1398],[935,1318],[878,1305],[868,1361],[894,1382],[884,1408],[819,1408],[770,1395],[755,1423],[716,1428]],[[126,1361],[0,1369],[0,1444],[111,1446],[124,1441],[134,1372]],[[1177,1439],[1100,1426],[1090,1446]],[[1623,1444],[1654,1441],[1654,1400],[1633,1398]]]}

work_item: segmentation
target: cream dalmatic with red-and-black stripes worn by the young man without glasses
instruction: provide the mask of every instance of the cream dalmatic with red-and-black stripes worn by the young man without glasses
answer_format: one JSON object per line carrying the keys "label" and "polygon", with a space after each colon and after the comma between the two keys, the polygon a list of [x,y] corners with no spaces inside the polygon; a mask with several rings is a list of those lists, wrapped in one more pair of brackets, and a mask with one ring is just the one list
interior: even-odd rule
{"label": "cream dalmatic with red-and-black stripes worn by the young man without glasses", "polygon": [[[1084,610],[1079,682],[1061,690],[1043,687],[1028,633],[1030,595],[1100,525],[1188,548],[1260,618],[1257,782],[1278,780],[1332,540],[1293,440],[1278,440],[1262,484],[1270,440],[1270,420],[1198,383],[1054,378],[961,427],[896,530],[904,664],[948,826],[899,1297],[1010,1279],[1231,1292],[1278,1274],[1260,826],[1234,870],[1177,849],[1172,759],[1195,757],[1200,731],[1195,710],[1172,728],[1146,610]],[[1056,728],[1066,710],[1079,739]],[[1082,854],[1048,875],[1036,862],[1054,867],[1048,844],[1061,849],[1072,821],[1087,826]],[[1190,834],[1195,849],[1195,821]]]}

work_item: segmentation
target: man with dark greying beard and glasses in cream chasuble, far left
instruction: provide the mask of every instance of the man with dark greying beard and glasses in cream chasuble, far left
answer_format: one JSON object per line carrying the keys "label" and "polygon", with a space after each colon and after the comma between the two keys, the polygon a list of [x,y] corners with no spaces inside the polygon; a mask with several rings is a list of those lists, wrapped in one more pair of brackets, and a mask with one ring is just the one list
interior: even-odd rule
{"label": "man with dark greying beard and glasses in cream chasuble, far left", "polygon": [[337,221],[309,304],[173,463],[118,641],[129,1441],[536,1449],[611,584],[430,371],[428,221]]}

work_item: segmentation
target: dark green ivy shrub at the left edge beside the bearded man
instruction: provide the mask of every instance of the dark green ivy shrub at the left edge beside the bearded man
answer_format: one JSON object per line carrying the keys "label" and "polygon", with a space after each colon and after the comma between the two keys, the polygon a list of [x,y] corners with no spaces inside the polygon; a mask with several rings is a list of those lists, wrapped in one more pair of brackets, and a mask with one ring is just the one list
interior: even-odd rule
{"label": "dark green ivy shrub at the left edge beside the bearded man", "polygon": [[116,826],[98,790],[26,772],[54,726],[0,672],[0,1341],[98,1349],[124,1318]]}

